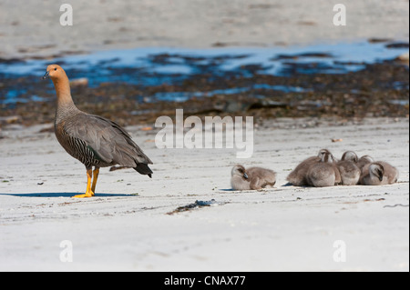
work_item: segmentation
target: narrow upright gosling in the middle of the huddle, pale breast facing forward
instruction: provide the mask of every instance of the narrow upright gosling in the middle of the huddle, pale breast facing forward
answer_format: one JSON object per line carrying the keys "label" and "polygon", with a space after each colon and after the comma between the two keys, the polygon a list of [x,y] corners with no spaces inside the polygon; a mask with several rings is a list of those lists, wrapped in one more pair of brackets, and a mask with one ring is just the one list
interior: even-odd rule
{"label": "narrow upright gosling in the middle of the huddle, pale breast facing forward", "polygon": [[342,160],[337,163],[342,185],[357,185],[359,182],[361,171],[356,163],[359,158],[353,151],[343,153]]}

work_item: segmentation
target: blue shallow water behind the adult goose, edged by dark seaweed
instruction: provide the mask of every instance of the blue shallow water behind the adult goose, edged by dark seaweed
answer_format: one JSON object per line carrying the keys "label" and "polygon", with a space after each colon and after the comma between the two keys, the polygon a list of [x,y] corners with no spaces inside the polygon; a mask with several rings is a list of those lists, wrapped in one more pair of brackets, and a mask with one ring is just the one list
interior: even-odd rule
{"label": "blue shallow water behind the adult goose, edged by dark seaweed", "polygon": [[[408,47],[388,48],[386,43],[340,43],[289,47],[220,47],[185,49],[148,47],[128,50],[102,51],[89,55],[68,55],[53,60],[27,60],[0,64],[0,82],[21,76],[42,76],[46,65],[62,65],[70,79],[87,77],[88,85],[126,83],[141,87],[162,84],[175,85],[195,75],[224,78],[259,75],[290,76],[298,74],[345,74],[358,71],[366,64],[393,59],[408,52]],[[397,87],[401,84],[397,84]],[[50,92],[53,86],[49,82]],[[148,95],[151,101],[186,101],[191,97],[246,93],[251,89],[282,92],[309,92],[308,87],[254,84],[210,92],[159,92]],[[0,86],[0,104],[45,101],[39,95],[26,94],[21,85]],[[25,95],[22,98],[21,95]]]}

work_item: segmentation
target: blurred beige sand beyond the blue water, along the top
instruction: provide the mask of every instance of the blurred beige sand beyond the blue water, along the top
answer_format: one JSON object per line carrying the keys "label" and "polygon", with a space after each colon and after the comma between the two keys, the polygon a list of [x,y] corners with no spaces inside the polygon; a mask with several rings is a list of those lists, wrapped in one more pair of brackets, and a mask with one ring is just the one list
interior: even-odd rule
{"label": "blurred beige sand beyond the blue water, along the top", "polygon": [[333,25],[337,1],[72,0],[0,1],[0,58],[45,57],[133,47],[272,46],[409,37],[408,0],[344,0],[346,25]]}

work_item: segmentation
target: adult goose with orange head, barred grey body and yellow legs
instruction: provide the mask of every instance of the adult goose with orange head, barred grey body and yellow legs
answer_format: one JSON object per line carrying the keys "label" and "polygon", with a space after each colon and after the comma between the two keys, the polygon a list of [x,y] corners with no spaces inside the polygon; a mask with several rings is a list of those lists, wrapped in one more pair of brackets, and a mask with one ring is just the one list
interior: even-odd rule
{"label": "adult goose with orange head, barred grey body and yellow legs", "polygon": [[[94,195],[100,167],[121,165],[132,167],[141,175],[149,175],[152,161],[131,136],[117,123],[99,115],[90,115],[77,109],[70,93],[66,72],[59,65],[48,65],[45,77],[50,77],[56,87],[57,106],[56,138],[69,155],[77,158],[87,168],[88,197]],[[92,167],[94,181],[90,186]]]}

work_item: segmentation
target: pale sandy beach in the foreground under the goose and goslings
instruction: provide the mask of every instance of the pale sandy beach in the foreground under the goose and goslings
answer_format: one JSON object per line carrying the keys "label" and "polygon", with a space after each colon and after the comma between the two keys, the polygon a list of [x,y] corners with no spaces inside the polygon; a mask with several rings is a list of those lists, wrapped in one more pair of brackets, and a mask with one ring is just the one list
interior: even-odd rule
{"label": "pale sandy beach in the foreground under the goose and goslings", "polygon": [[[408,118],[269,121],[257,127],[250,159],[237,159],[234,149],[158,149],[155,130],[128,127],[155,163],[153,178],[105,168],[97,196],[83,200],[70,198],[85,190],[83,165],[52,133],[37,133],[45,126],[2,132],[2,271],[409,270]],[[323,147],[338,157],[354,149],[388,161],[399,182],[286,186],[290,170]],[[275,170],[276,188],[231,191],[238,162]],[[168,215],[211,199],[215,205]],[[60,261],[63,241],[72,245],[72,262]],[[338,241],[345,262],[333,259]]]}

